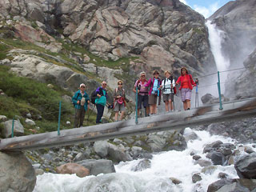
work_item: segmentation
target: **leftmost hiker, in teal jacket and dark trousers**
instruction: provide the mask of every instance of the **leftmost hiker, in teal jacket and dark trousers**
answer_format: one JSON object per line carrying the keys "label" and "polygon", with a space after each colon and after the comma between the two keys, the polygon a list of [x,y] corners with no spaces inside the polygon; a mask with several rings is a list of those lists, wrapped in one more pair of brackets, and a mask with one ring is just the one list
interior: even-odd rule
{"label": "leftmost hiker, in teal jacket and dark trousers", "polygon": [[74,93],[72,97],[72,102],[74,104],[74,127],[82,126],[82,122],[86,115],[86,110],[88,108],[88,104],[90,103],[90,98],[88,94],[86,94],[86,85],[82,83],[79,86],[79,90]]}

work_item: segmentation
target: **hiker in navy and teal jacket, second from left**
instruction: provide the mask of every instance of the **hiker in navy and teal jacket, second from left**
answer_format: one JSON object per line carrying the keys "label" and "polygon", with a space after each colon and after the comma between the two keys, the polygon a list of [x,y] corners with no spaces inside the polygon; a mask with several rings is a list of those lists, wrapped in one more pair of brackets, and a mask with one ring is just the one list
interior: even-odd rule
{"label": "hiker in navy and teal jacket, second from left", "polygon": [[96,104],[96,108],[97,108],[96,123],[101,123],[103,112],[104,112],[104,107],[106,105],[106,98],[107,98],[106,82],[102,82],[102,86],[99,86],[97,88],[96,96],[97,96],[97,98],[95,99],[95,104]]}

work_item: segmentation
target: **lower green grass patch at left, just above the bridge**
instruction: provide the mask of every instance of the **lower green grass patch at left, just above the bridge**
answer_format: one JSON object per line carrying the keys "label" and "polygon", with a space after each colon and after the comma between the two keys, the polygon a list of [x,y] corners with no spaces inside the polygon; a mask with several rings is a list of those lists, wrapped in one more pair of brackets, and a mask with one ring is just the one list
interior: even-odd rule
{"label": "lower green grass patch at left, just above the bridge", "polygon": [[[33,134],[36,126],[40,127],[37,133],[56,131],[58,129],[59,101],[63,94],[70,95],[58,86],[50,89],[46,84],[30,78],[18,77],[9,72],[8,66],[0,66],[0,89],[6,96],[0,96],[0,114],[12,119],[18,115],[25,128],[25,134]],[[70,95],[72,96],[72,95]],[[30,113],[36,126],[25,123],[26,114]],[[62,101],[61,130],[70,129],[74,125],[74,106],[71,102]],[[86,119],[88,114],[86,113]],[[38,119],[41,116],[42,119]],[[85,119],[84,126],[95,124],[96,114]],[[66,125],[70,121],[71,125]],[[1,127],[0,127],[1,129]],[[30,130],[31,129],[31,130]],[[0,135],[1,137],[1,135]]]}

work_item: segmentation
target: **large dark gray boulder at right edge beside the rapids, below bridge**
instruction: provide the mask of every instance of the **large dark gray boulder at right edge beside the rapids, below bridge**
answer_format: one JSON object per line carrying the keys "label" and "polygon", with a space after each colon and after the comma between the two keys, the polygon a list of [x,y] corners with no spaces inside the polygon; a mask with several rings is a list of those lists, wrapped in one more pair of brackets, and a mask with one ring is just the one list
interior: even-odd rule
{"label": "large dark gray boulder at right edge beside the rapids, below bridge", "polygon": [[242,156],[234,164],[239,178],[256,178],[256,153]]}

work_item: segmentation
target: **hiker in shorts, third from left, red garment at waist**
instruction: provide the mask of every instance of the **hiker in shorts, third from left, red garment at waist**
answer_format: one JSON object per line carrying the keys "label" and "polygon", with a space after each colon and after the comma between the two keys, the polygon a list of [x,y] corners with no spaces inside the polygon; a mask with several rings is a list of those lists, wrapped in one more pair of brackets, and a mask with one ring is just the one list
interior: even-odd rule
{"label": "hiker in shorts, third from left, red garment at waist", "polygon": [[125,90],[122,88],[122,81],[118,81],[118,87],[114,90],[114,120],[118,122],[118,113],[121,112],[120,121],[125,115],[126,102],[130,102],[126,98]]}

